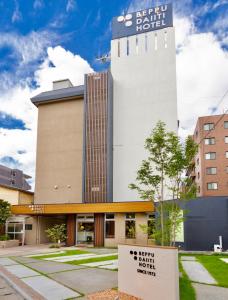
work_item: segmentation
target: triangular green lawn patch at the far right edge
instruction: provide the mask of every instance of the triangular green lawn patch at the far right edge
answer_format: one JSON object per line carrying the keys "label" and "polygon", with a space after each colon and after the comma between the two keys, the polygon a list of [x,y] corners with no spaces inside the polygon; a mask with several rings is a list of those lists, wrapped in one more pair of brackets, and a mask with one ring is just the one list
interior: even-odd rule
{"label": "triangular green lawn patch at the far right edge", "polygon": [[228,258],[228,255],[195,255],[197,260],[208,270],[218,282],[219,286],[228,288],[228,264],[220,258]]}

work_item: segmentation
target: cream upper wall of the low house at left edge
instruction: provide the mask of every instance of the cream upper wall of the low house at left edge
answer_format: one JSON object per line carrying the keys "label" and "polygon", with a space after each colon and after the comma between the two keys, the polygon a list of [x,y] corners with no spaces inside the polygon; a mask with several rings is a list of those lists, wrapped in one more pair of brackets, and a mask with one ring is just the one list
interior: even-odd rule
{"label": "cream upper wall of the low house at left edge", "polygon": [[0,186],[0,199],[8,201],[11,205],[31,204],[33,194]]}

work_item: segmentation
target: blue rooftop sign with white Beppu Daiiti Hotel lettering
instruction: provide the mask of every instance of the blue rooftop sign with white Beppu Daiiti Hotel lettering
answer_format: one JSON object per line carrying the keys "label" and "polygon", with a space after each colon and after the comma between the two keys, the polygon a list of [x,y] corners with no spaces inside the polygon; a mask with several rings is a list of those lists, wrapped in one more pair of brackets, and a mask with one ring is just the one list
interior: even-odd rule
{"label": "blue rooftop sign with white Beppu Daiiti Hotel lettering", "polygon": [[112,39],[172,26],[172,4],[160,5],[113,18]]}

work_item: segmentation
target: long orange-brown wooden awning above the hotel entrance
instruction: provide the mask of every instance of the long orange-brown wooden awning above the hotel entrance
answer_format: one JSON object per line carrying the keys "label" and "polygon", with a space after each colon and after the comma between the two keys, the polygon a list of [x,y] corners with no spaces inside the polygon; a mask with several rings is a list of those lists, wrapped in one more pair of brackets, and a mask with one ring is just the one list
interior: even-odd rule
{"label": "long orange-brown wooden awning above the hotel entrance", "polygon": [[110,202],[110,203],[66,203],[66,204],[33,204],[12,205],[14,215],[45,215],[45,214],[79,214],[106,212],[153,212],[151,201]]}

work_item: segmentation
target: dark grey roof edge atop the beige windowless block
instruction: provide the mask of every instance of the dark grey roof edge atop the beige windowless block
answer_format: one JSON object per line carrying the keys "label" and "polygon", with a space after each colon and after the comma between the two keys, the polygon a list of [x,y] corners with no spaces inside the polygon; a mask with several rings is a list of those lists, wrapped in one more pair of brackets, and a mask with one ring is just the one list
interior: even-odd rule
{"label": "dark grey roof edge atop the beige windowless block", "polygon": [[34,105],[84,96],[84,85],[43,92],[31,98]]}

